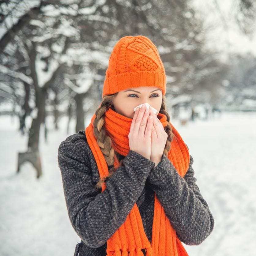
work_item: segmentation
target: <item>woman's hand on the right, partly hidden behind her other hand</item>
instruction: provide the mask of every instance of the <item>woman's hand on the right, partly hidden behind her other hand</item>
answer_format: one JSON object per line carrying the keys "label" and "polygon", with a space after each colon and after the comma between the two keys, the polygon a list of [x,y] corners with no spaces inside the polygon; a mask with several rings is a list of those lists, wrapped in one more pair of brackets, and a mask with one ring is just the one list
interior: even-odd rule
{"label": "woman's hand on the right, partly hidden behind her other hand", "polygon": [[153,116],[153,126],[151,131],[151,156],[150,160],[155,163],[155,166],[162,161],[164,147],[168,138],[166,131],[158,119],[156,114],[149,107],[150,115]]}

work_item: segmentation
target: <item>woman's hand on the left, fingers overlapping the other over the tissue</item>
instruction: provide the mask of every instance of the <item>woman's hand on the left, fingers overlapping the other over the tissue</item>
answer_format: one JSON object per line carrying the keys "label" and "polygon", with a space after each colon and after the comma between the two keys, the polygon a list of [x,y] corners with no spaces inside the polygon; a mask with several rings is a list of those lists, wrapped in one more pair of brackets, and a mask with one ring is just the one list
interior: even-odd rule
{"label": "woman's hand on the left, fingers overlapping the other over the tissue", "polygon": [[150,160],[151,155],[151,129],[153,117],[149,118],[145,105],[136,109],[128,134],[130,150],[133,150]]}

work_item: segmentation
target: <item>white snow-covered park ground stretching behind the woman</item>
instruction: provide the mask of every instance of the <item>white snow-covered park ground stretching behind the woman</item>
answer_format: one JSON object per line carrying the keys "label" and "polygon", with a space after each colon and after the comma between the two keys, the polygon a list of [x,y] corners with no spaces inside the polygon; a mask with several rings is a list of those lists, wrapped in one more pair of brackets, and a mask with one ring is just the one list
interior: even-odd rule
{"label": "white snow-covered park ground stretching behind the woman", "polygon": [[[48,141],[40,135],[43,176],[37,180],[29,163],[16,175],[17,153],[26,150],[27,138],[17,131],[17,118],[0,116],[2,256],[71,256],[81,240],[68,218],[57,161],[58,146],[69,135],[66,119],[59,131],[48,121]],[[201,245],[185,245],[189,255],[255,255],[256,113],[223,113],[186,126],[171,122],[190,149],[197,184],[215,218]]]}

